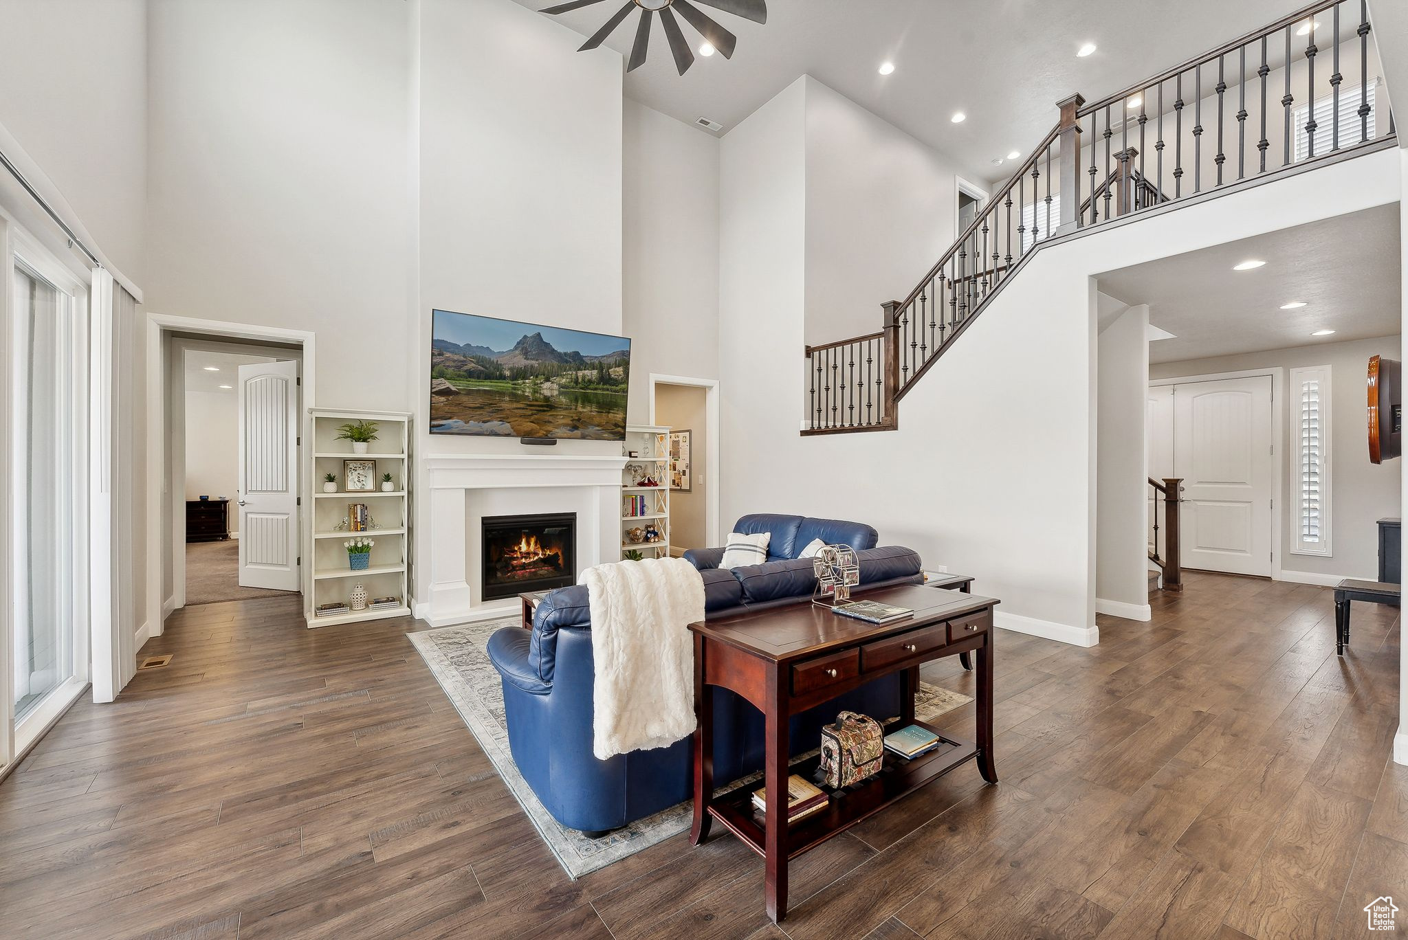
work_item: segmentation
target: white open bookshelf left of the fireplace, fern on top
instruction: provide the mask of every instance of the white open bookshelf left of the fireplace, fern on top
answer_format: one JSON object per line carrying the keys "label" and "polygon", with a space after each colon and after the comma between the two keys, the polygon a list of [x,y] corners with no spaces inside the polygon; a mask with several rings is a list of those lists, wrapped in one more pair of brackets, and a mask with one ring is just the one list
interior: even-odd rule
{"label": "white open bookshelf left of the fireplace, fern on top", "polygon": [[[356,453],[351,440],[338,440],[338,428],[358,421],[377,425],[376,440],[366,453]],[[411,415],[398,411],[308,409],[307,478],[311,498],[304,504],[304,564],[313,564],[311,590],[304,597],[304,619],[310,628],[358,623],[389,616],[407,616],[411,564]],[[348,464],[346,462],[355,462]],[[335,490],[324,493],[324,477],[332,474]],[[383,474],[391,474],[391,490],[382,490]],[[349,490],[370,485],[369,490]],[[353,507],[366,507],[365,511]],[[366,529],[351,526],[358,516]],[[372,546],[367,567],[352,570],[345,542],[366,538]],[[352,609],[356,584],[366,591],[367,606]],[[391,598],[386,606],[377,598]],[[320,608],[342,604],[345,611],[320,614]]]}

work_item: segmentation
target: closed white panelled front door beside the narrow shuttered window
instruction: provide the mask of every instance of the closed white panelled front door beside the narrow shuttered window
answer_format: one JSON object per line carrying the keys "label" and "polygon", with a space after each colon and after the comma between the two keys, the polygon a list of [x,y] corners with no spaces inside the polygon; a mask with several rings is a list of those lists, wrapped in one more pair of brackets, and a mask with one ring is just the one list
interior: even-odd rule
{"label": "closed white panelled front door beside the narrow shuttered window", "polygon": [[1183,566],[1270,576],[1271,377],[1178,384],[1173,400]]}

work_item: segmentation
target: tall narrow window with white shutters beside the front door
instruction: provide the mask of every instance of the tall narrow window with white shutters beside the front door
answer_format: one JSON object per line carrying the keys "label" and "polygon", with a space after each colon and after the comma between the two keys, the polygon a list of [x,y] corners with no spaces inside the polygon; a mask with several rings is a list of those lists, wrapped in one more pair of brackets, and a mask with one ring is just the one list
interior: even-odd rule
{"label": "tall narrow window with white shutters beside the front door", "polygon": [[1329,366],[1291,370],[1295,553],[1331,554]]}

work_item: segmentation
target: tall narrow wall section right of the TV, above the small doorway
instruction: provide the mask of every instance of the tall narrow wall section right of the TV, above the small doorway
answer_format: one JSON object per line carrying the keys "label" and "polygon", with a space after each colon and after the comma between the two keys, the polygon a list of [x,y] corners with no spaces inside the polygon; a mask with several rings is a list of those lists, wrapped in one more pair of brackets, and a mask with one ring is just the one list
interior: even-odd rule
{"label": "tall narrow wall section right of the TV, above the small doorway", "polygon": [[719,139],[625,103],[621,325],[629,421],[649,421],[650,373],[718,379]]}

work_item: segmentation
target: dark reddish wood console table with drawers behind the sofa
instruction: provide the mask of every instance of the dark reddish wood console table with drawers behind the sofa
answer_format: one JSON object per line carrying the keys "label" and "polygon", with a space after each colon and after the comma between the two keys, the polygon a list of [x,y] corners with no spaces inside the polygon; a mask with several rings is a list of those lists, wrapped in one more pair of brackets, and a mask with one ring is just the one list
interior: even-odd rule
{"label": "dark reddish wood console table with drawers behind the sofa", "polygon": [[[905,794],[976,760],[983,780],[995,784],[993,764],[993,598],[924,585],[880,588],[856,598],[914,609],[894,623],[866,623],[812,604],[794,604],[758,614],[691,623],[694,633],[694,826],[697,846],[718,819],[766,860],[766,902],[773,920],[787,915],[787,860],[814,849]],[[914,692],[919,664],[977,653],[976,742],[941,733],[915,722]],[[810,777],[817,758],[788,766],[788,718],[881,675],[901,674],[901,713],[886,733],[918,723],[943,743],[904,760],[886,751],[883,770],[852,788],[836,791],[826,809],[788,826],[786,801],[769,799],[766,818],[752,808],[752,791],[741,787],[714,798],[714,687],[728,688],[765,715],[769,794],[787,792],[787,775]],[[881,716],[876,716],[881,718]]]}

